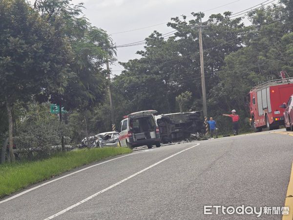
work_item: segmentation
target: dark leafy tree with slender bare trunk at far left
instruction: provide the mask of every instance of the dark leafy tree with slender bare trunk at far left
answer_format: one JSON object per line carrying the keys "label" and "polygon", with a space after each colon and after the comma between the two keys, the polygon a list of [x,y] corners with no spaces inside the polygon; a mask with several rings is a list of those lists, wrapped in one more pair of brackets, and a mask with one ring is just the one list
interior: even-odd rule
{"label": "dark leafy tree with slender bare trunk at far left", "polygon": [[44,89],[62,90],[70,77],[71,48],[54,26],[24,0],[0,0],[0,98],[9,121],[10,157],[14,159],[11,107]]}

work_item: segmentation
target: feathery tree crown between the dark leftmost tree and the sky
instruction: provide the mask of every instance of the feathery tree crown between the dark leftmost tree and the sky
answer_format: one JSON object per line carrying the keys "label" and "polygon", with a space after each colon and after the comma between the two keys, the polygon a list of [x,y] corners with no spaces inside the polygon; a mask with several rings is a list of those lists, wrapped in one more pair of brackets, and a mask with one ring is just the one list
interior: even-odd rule
{"label": "feathery tree crown between the dark leftmost tree and the sky", "polygon": [[91,26],[82,15],[83,4],[73,5],[70,0],[36,0],[34,9],[48,23],[61,20],[62,34],[73,49],[69,63],[74,75],[62,92],[43,90],[43,97],[52,103],[62,103],[67,110],[93,108],[104,100],[106,81],[102,65],[115,54],[112,40],[100,28]]}

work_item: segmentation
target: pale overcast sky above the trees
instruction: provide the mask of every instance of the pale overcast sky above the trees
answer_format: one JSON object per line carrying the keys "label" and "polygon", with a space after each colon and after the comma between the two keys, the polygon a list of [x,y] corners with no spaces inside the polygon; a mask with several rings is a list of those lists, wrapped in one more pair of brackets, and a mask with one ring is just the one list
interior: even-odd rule
{"label": "pale overcast sky above the trees", "polygon": [[[72,2],[74,4],[84,2],[84,14],[92,25],[107,31],[114,43],[121,45],[143,41],[153,30],[163,34],[172,31],[166,25],[172,17],[189,16],[191,12],[199,11],[205,12],[206,18],[224,11],[236,13],[265,0],[72,0]],[[268,2],[270,1],[265,3]],[[140,56],[135,53],[142,49],[143,45],[118,48],[117,59],[126,62],[129,59],[139,58]],[[122,70],[118,64],[112,65],[111,68],[113,74],[119,74]]]}

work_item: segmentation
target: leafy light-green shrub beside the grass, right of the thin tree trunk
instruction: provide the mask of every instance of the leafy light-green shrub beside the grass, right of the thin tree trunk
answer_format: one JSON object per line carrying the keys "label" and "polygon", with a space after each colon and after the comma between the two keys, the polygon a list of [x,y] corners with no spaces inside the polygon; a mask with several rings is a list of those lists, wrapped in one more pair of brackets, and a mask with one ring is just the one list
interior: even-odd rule
{"label": "leafy light-green shrub beside the grass, right of the thin tree trunk", "polygon": [[[60,123],[56,114],[49,111],[50,104],[36,102],[15,104],[17,132],[14,142],[21,151],[21,159],[48,157],[61,144],[61,136],[69,135],[66,124]],[[67,142],[67,144],[70,144]]]}

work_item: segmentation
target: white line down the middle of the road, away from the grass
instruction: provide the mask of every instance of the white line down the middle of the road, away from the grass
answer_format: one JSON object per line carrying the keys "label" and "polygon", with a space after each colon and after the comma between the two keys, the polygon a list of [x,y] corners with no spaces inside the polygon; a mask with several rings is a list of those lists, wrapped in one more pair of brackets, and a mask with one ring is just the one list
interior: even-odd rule
{"label": "white line down the middle of the road, away from the grass", "polygon": [[197,143],[196,145],[194,145],[194,146],[192,146],[192,147],[190,147],[190,148],[187,148],[187,149],[185,149],[185,150],[179,151],[179,152],[176,153],[176,154],[172,154],[172,155],[166,157],[165,159],[162,159],[162,160],[160,160],[160,161],[154,163],[153,165],[150,165],[149,167],[146,167],[145,169],[143,169],[143,170],[141,170],[141,171],[139,171],[139,172],[137,172],[137,173],[135,173],[135,174],[132,174],[131,176],[128,176],[127,178],[125,178],[125,179],[123,179],[123,180],[121,180],[121,181],[119,181],[119,182],[114,183],[113,185],[111,185],[111,186],[109,186],[109,187],[107,187],[107,188],[105,188],[105,189],[103,189],[103,190],[101,190],[101,191],[99,191],[99,192],[97,192],[97,193],[95,193],[95,194],[93,194],[93,195],[91,195],[91,196],[89,196],[89,197],[87,197],[87,198],[84,198],[83,200],[79,201],[78,203],[76,203],[76,204],[74,204],[74,205],[71,205],[71,206],[69,206],[69,207],[66,208],[66,209],[63,209],[62,211],[60,211],[60,212],[58,212],[58,213],[56,213],[56,214],[54,214],[54,215],[52,215],[52,216],[46,218],[45,220],[54,219],[55,217],[60,216],[60,215],[62,215],[63,213],[65,213],[65,212],[67,212],[67,211],[73,209],[74,207],[83,204],[84,202],[88,201],[89,199],[92,199],[92,198],[94,198],[94,197],[96,197],[96,196],[98,196],[98,195],[100,195],[100,194],[106,192],[107,190],[109,190],[109,189],[111,189],[111,188],[113,188],[113,187],[115,187],[115,186],[117,186],[117,185],[119,185],[119,184],[125,182],[126,180],[128,180],[128,179],[130,179],[130,178],[132,178],[132,177],[134,177],[134,176],[137,176],[137,175],[139,175],[139,174],[145,172],[146,170],[148,170],[148,169],[150,169],[150,168],[152,168],[152,167],[154,167],[154,166],[156,166],[156,165],[158,165],[158,164],[164,162],[165,160],[170,159],[171,157],[176,156],[176,155],[178,155],[178,154],[181,154],[181,153],[183,153],[183,152],[185,152],[185,151],[188,151],[189,149],[194,148],[194,147],[196,147],[196,146],[198,146],[198,145],[200,145],[200,143]]}

